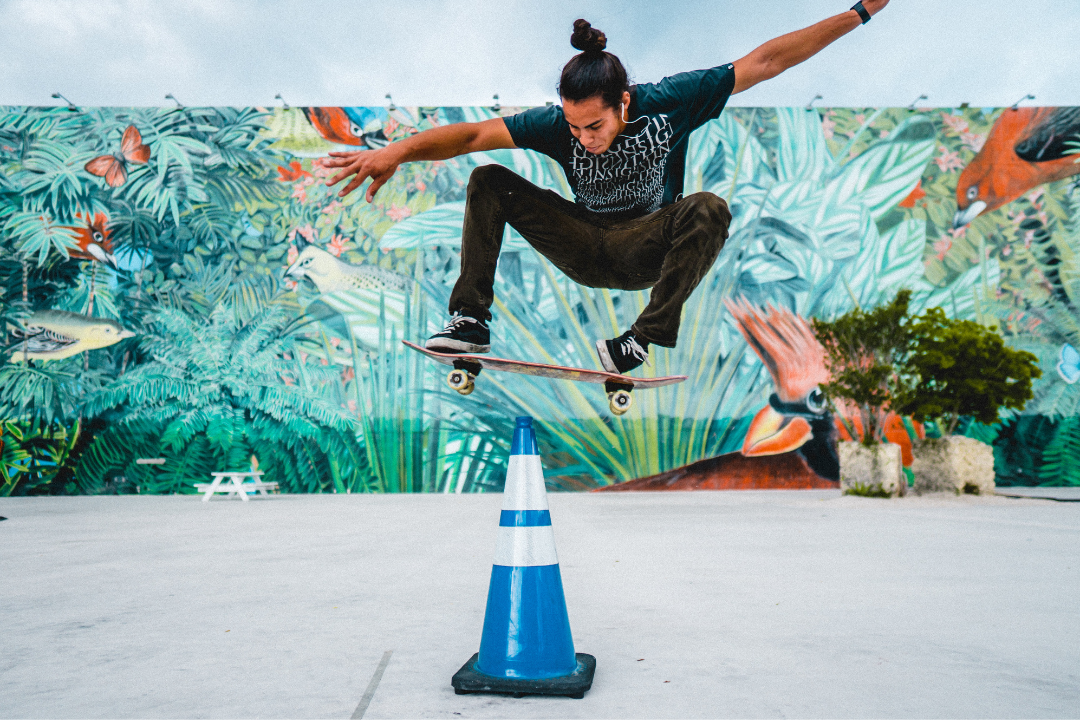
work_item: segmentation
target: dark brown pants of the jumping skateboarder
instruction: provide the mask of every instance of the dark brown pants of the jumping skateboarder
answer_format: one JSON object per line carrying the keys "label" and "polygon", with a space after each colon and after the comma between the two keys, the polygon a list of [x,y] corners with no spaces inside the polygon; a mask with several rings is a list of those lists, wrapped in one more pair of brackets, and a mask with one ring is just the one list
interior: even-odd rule
{"label": "dark brown pants of the jumping skateboarder", "polygon": [[698,192],[632,220],[609,218],[543,190],[501,165],[472,172],[461,232],[461,276],[450,312],[489,320],[507,223],[566,275],[589,287],[652,288],[631,329],[674,348],[683,303],[728,237],[728,204]]}

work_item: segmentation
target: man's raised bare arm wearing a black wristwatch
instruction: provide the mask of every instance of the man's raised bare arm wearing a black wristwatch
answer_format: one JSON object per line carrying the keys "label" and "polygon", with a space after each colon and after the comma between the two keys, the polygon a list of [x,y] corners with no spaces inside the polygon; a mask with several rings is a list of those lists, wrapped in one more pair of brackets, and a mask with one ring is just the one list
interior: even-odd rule
{"label": "man's raised bare arm wearing a black wristwatch", "polygon": [[[870,15],[881,12],[889,0],[863,0]],[[775,78],[789,67],[807,60],[862,24],[854,10],[834,15],[810,27],[782,35],[734,62],[735,87],[732,94],[750,90],[762,80]]]}

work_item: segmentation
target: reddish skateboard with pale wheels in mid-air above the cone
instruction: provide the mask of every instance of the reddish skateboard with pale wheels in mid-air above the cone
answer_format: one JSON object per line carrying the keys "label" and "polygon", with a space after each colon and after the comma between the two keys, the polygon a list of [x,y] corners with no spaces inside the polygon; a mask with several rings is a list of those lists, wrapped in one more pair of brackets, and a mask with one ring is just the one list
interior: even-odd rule
{"label": "reddish skateboard with pale wheels in mid-air above the cone", "polygon": [[626,375],[608,372],[607,370],[586,370],[580,367],[527,363],[525,361],[489,357],[487,355],[440,353],[434,350],[421,348],[408,340],[402,340],[402,342],[413,350],[423,353],[436,363],[451,366],[454,369],[446,376],[446,384],[462,395],[468,395],[475,390],[476,376],[484,368],[488,368],[490,370],[502,370],[503,372],[554,378],[555,380],[573,380],[576,382],[603,384],[604,390],[607,391],[608,407],[611,409],[611,412],[623,415],[634,403],[634,398],[630,393],[635,388],[662,388],[686,380],[685,375],[672,375],[665,378],[632,378]]}

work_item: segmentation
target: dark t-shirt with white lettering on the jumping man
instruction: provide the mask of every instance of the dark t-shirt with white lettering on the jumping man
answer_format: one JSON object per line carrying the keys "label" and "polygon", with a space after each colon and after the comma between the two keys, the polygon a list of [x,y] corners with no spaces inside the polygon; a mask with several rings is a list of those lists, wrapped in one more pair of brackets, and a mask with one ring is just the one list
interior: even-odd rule
{"label": "dark t-shirt with white lettering on the jumping man", "polygon": [[577,202],[596,213],[637,217],[683,194],[690,133],[720,116],[734,66],[680,72],[630,91],[626,128],[594,155],[570,133],[563,108],[532,108],[503,120],[514,145],[554,158]]}

